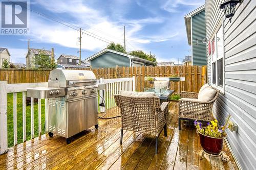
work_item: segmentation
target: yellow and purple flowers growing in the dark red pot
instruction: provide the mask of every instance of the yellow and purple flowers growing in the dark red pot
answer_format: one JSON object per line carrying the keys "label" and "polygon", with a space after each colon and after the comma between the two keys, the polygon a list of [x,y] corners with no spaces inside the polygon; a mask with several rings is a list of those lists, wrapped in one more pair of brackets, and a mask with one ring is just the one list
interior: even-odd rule
{"label": "yellow and purple flowers growing in the dark red pot", "polygon": [[228,128],[227,124],[229,119],[231,118],[231,115],[228,115],[227,119],[226,119],[226,123],[224,126],[221,126],[221,128],[219,128],[218,126],[218,120],[212,120],[211,122],[207,123],[206,127],[202,127],[202,123],[198,122],[197,120],[195,120],[194,124],[198,130],[198,132],[206,135],[206,136],[210,136],[210,137],[225,137],[227,134],[225,132],[225,129]]}

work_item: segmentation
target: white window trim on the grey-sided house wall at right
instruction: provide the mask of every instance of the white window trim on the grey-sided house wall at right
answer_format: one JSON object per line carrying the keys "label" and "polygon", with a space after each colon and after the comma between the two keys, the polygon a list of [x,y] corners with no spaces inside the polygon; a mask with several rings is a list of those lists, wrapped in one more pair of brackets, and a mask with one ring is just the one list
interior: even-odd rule
{"label": "white window trim on the grey-sided house wall at right", "polygon": [[[222,18],[222,21],[219,22],[218,24],[218,27],[216,28],[214,34],[212,34],[211,36],[211,39],[210,39],[210,42],[212,42],[212,40],[215,38],[215,53],[216,55],[218,54],[218,46],[217,46],[217,32],[222,29],[222,34],[223,34],[223,56],[222,57],[218,57],[218,55],[216,56],[216,59],[215,60],[212,60],[212,44],[211,44],[211,54],[210,54],[210,64],[211,64],[211,86],[217,88],[220,90],[220,92],[222,94],[225,94],[225,46],[224,46],[224,21],[223,21],[223,18]],[[222,59],[222,68],[223,68],[223,87],[220,87],[218,86],[218,63],[217,61]],[[212,64],[215,62],[215,79],[216,79],[216,84],[212,83],[212,78],[213,78],[213,71],[212,71]]]}

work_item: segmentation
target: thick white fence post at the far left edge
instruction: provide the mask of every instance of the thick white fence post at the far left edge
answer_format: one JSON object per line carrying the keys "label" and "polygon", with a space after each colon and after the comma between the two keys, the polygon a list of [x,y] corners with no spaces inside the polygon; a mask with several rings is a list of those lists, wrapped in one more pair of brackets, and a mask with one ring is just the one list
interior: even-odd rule
{"label": "thick white fence post at the far left edge", "polygon": [[7,81],[0,81],[0,155],[7,152]]}

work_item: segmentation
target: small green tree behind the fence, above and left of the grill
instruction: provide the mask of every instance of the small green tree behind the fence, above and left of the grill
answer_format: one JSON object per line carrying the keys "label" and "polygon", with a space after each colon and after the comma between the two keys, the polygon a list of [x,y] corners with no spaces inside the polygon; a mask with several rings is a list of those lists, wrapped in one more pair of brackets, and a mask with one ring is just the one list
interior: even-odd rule
{"label": "small green tree behind the fence, above and left of the grill", "polygon": [[54,69],[57,67],[55,62],[51,62],[51,56],[46,55],[45,50],[40,50],[39,54],[33,58],[35,65],[38,65],[38,69]]}

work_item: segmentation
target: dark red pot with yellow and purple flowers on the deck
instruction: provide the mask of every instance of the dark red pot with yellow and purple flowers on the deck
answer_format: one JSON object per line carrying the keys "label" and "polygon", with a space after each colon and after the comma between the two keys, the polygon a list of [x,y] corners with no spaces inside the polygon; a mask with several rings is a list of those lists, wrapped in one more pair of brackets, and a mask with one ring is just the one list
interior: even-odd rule
{"label": "dark red pot with yellow and purple flowers on the deck", "polygon": [[200,136],[200,143],[206,153],[212,155],[219,155],[221,153],[224,138],[227,136],[225,129],[228,128],[227,124],[229,119],[230,115],[228,116],[225,125],[220,128],[218,127],[217,120],[212,120],[207,123],[206,127],[203,127],[201,122],[195,120],[194,124]]}

